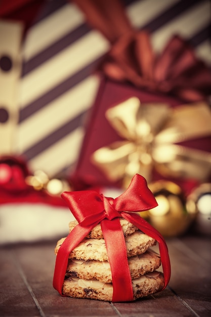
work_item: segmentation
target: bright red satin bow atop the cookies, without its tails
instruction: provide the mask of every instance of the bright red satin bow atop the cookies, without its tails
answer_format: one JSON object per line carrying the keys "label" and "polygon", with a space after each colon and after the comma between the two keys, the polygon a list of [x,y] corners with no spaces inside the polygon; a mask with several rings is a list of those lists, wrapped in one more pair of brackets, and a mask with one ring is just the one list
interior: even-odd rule
{"label": "bright red satin bow atop the cookies, without its tails", "polygon": [[80,225],[120,217],[120,211],[144,211],[157,206],[145,178],[139,174],[133,177],[128,189],[115,199],[94,190],[65,191],[61,196]]}

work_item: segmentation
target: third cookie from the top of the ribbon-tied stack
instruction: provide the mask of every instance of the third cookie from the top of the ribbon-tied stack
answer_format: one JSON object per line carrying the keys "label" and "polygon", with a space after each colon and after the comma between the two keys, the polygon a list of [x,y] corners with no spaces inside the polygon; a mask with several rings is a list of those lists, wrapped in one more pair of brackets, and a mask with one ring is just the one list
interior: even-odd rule
{"label": "third cookie from the top of the ribbon-tied stack", "polygon": [[[160,256],[150,250],[128,259],[131,278],[136,279],[146,272],[152,272],[160,266]],[[112,283],[111,268],[108,261],[69,259],[66,276],[84,280],[98,280]]]}

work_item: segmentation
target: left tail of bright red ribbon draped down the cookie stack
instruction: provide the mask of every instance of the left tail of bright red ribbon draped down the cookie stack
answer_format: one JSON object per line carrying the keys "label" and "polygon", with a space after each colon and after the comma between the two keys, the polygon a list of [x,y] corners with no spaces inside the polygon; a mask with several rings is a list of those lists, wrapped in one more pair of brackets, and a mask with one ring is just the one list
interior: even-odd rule
{"label": "left tail of bright red ribbon draped down the cookie stack", "polygon": [[56,257],[53,287],[60,293],[60,295],[64,296],[62,294],[62,286],[64,283],[64,277],[70,252],[89,234],[93,227],[95,227],[98,223],[99,221],[88,227],[82,227],[78,224],[68,234],[65,241],[59,248]]}

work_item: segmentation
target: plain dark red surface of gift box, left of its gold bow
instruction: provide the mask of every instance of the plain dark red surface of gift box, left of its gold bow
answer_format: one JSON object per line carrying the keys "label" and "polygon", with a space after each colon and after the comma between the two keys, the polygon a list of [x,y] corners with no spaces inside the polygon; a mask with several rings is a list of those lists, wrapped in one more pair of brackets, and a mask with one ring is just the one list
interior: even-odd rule
{"label": "plain dark red surface of gift box, left of its gold bow", "polygon": [[71,176],[74,188],[120,186],[121,183],[119,181],[111,182],[107,179],[105,174],[92,163],[91,157],[97,149],[114,141],[122,140],[109,124],[105,117],[105,112],[113,105],[134,96],[138,97],[143,103],[167,103],[172,107],[181,104],[181,101],[176,98],[138,90],[132,85],[119,84],[103,78],[89,117],[79,160]]}

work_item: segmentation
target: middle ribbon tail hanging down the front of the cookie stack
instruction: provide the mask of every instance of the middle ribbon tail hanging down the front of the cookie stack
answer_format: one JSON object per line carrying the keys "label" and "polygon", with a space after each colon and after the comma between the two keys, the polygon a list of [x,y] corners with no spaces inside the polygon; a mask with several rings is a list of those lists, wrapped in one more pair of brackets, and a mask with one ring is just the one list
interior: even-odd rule
{"label": "middle ribbon tail hanging down the front of the cookie stack", "polygon": [[128,265],[125,240],[119,222],[119,218],[114,218],[111,221],[109,221],[108,219],[102,220],[101,228],[103,231],[103,236],[106,244],[108,259],[112,273],[112,301],[133,301],[134,295],[131,281],[131,273]]}

